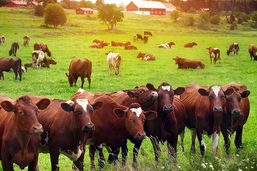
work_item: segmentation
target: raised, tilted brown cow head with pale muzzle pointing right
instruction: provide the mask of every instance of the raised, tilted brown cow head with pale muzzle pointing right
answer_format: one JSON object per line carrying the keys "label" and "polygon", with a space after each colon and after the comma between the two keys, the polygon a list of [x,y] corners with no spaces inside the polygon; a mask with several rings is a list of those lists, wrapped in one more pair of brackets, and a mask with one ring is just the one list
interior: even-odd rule
{"label": "raised, tilted brown cow head with pale muzzle pointing right", "polygon": [[136,91],[129,90],[127,93],[129,97],[138,99],[138,103],[144,111],[147,111],[148,107],[152,106],[158,99],[158,93],[150,83],[147,83],[146,86],[138,87]]}

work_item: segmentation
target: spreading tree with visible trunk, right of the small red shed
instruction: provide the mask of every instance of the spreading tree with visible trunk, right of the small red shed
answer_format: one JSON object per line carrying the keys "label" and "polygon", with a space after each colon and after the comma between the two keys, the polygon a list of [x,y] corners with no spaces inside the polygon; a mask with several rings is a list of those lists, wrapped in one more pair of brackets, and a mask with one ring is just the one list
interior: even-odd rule
{"label": "spreading tree with visible trunk, right of the small red shed", "polygon": [[118,22],[122,22],[124,15],[120,10],[115,9],[113,4],[103,4],[98,8],[98,17],[111,30]]}

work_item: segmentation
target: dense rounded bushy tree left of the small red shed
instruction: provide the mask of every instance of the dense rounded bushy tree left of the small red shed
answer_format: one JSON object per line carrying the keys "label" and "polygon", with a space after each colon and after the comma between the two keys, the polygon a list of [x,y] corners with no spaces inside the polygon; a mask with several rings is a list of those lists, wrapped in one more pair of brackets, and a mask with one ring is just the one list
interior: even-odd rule
{"label": "dense rounded bushy tree left of the small red shed", "polygon": [[45,24],[57,28],[57,25],[63,25],[66,21],[65,12],[60,5],[50,3],[45,7]]}

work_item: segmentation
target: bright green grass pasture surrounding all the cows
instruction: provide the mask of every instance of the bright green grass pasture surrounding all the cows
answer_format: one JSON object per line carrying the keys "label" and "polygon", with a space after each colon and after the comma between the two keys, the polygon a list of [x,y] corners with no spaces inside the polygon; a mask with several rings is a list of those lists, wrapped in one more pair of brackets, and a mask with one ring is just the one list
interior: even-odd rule
{"label": "bright green grass pasture surrounding all the cows", "polygon": [[[51,65],[49,69],[42,68],[32,70],[29,68],[26,74],[22,75],[22,81],[15,81],[14,73],[4,72],[5,80],[0,81],[0,94],[11,99],[25,94],[47,96],[49,98],[59,98],[70,100],[71,95],[79,89],[80,79],[77,87],[70,87],[65,72],[68,72],[69,64],[74,58],[87,58],[92,61],[91,89],[85,81],[84,89],[90,92],[118,91],[130,89],[135,86],[146,85],[150,82],[158,87],[162,82],[168,82],[173,88],[185,86],[194,81],[197,84],[210,86],[213,84],[228,84],[231,81],[244,83],[248,90],[250,100],[250,115],[243,129],[244,149],[236,153],[234,145],[234,135],[231,138],[231,157],[225,157],[223,148],[224,140],[222,135],[218,142],[218,158],[213,158],[211,151],[211,139],[205,137],[207,145],[206,158],[200,156],[199,143],[196,140],[196,154],[190,153],[191,132],[186,128],[184,139],[185,154],[178,150],[177,164],[173,164],[167,159],[166,144],[161,147],[162,155],[160,164],[154,162],[154,152],[150,139],[143,141],[138,155],[139,170],[257,170],[257,79],[256,62],[250,60],[248,53],[249,44],[257,44],[257,29],[238,25],[238,30],[230,31],[229,25],[223,22],[222,28],[211,27],[209,30],[199,30],[197,26],[184,27],[182,23],[170,21],[169,16],[145,16],[124,13],[123,23],[118,23],[117,27],[127,32],[104,31],[107,26],[99,23],[97,14],[93,16],[75,15],[74,11],[67,12],[67,24],[65,26],[53,28],[43,27],[44,19],[30,15],[33,10],[0,8],[0,34],[6,38],[6,46],[0,47],[0,57],[9,57],[8,50],[11,43],[19,42],[20,49],[17,51],[17,58],[21,58],[22,63],[31,61],[33,44],[35,42],[45,42],[52,52],[53,59],[57,65]],[[74,14],[73,14],[74,13]],[[179,20],[179,19],[178,19]],[[67,28],[67,29],[66,29]],[[143,34],[144,30],[152,32],[148,44],[143,41],[133,42],[133,34]],[[59,31],[60,33],[55,33]],[[28,47],[23,46],[23,36],[30,36]],[[88,48],[93,44],[94,39],[111,41],[131,41],[138,50],[124,50],[124,47],[104,47],[103,49]],[[159,49],[158,45],[173,41],[173,49]],[[198,46],[184,48],[187,42],[196,42]],[[240,45],[238,56],[226,55],[229,45],[237,42]],[[210,64],[210,57],[207,47],[217,47],[220,49],[221,65]],[[106,52],[113,51],[122,56],[120,75],[109,74],[106,62]],[[136,58],[139,52],[150,53],[156,57],[155,61],[142,61]],[[178,70],[173,58],[200,60],[206,68],[202,70]],[[18,77],[19,78],[19,77]],[[178,140],[179,147],[180,140]],[[86,147],[87,148],[87,147]],[[127,170],[132,170],[132,148],[128,143],[129,154],[126,165]],[[179,148],[178,148],[179,149]],[[107,151],[104,151],[107,159]],[[239,156],[236,156],[238,154]],[[97,162],[97,157],[95,158]],[[201,166],[206,164],[206,168]],[[59,157],[60,170],[71,170],[72,162],[63,155]],[[41,170],[51,170],[49,154],[39,155],[39,167]],[[162,168],[164,167],[164,168]],[[248,167],[248,169],[246,169]],[[253,168],[251,168],[253,167]],[[97,166],[98,168],[98,166]],[[90,159],[88,148],[85,154],[84,170],[90,169]],[[1,164],[0,164],[0,170]],[[15,165],[15,170],[19,167]],[[114,170],[113,164],[106,164],[104,170]]]}

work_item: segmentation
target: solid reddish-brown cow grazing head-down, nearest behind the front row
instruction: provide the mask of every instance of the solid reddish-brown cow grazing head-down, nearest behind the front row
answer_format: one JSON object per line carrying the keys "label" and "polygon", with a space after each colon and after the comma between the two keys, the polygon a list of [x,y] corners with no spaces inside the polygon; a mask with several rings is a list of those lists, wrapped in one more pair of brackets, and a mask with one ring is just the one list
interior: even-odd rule
{"label": "solid reddish-brown cow grazing head-down, nearest behind the front row", "polygon": [[87,78],[88,80],[88,88],[90,89],[90,83],[91,83],[91,73],[92,73],[92,62],[86,58],[80,59],[76,58],[71,61],[71,64],[69,66],[69,75],[66,73],[66,76],[68,77],[70,86],[76,87],[76,83],[78,78],[81,78],[81,88],[83,88],[84,84],[84,78]]}

